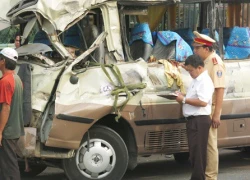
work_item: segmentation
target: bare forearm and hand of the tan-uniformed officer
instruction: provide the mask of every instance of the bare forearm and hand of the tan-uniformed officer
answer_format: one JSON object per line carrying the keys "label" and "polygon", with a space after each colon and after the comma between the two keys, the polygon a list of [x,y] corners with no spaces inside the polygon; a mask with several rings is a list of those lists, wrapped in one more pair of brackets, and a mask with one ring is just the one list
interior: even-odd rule
{"label": "bare forearm and hand of the tan-uniformed officer", "polygon": [[220,125],[220,115],[222,109],[224,88],[215,88],[215,108],[212,116],[212,126],[213,128],[218,128]]}

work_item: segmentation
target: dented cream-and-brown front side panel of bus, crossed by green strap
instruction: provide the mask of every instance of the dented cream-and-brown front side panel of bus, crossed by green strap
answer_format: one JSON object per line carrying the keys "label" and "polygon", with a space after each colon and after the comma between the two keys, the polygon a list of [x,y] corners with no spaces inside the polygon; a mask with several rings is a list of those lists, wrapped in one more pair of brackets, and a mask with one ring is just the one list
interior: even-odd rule
{"label": "dented cream-and-brown front side panel of bus, crossed by green strap", "polygon": [[[126,85],[147,81],[147,63],[143,60],[136,63],[119,64],[118,68]],[[118,84],[112,72],[108,68],[107,71],[115,84]],[[113,113],[115,97],[111,95],[111,91],[114,89],[114,86],[101,67],[89,68],[86,72],[79,74],[77,84],[69,82],[70,73],[66,72],[62,76],[57,89],[55,117],[46,145],[77,149],[83,135],[93,123]],[[133,96],[127,105],[137,105],[140,99],[141,96]],[[119,96],[118,106],[125,100],[126,97]],[[58,114],[92,119],[93,123],[86,124],[58,119]],[[61,132],[64,133],[62,134]]]}

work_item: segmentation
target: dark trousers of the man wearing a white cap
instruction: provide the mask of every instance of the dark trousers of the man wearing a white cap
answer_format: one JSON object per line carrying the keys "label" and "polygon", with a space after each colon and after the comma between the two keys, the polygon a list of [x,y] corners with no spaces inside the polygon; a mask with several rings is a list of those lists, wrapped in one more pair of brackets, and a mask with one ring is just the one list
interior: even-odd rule
{"label": "dark trousers of the man wearing a white cap", "polygon": [[21,180],[16,147],[18,139],[2,139],[0,147],[0,180]]}

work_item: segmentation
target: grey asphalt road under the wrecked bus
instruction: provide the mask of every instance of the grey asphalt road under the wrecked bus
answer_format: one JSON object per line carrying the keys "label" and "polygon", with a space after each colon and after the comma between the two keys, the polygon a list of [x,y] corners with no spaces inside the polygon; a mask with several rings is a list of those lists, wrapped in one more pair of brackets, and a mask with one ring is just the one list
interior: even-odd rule
{"label": "grey asphalt road under the wrecked bus", "polygon": [[[220,149],[218,180],[249,180],[250,152]],[[188,180],[191,174],[189,164],[178,164],[173,156],[154,155],[139,158],[140,164],[133,171],[127,171],[123,180]],[[35,178],[22,180],[64,180],[61,169],[47,168]]]}

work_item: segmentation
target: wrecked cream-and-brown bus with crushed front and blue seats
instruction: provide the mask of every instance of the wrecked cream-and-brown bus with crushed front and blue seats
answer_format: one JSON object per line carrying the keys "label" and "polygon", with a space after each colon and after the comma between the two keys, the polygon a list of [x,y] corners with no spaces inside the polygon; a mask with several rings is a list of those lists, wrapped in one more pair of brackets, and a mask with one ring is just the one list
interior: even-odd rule
{"label": "wrecked cream-and-brown bus with crushed front and blue seats", "polygon": [[[1,23],[20,25],[22,31],[17,73],[26,108],[25,136],[19,142],[23,175],[56,166],[71,180],[117,180],[136,167],[138,156],[164,153],[187,159],[181,107],[158,95],[188,87],[191,77],[176,62],[192,54],[192,39],[166,30],[214,28],[215,1],[13,2],[5,1],[10,9]],[[185,8],[190,4],[192,11]],[[193,18],[185,19],[186,13]],[[207,26],[204,19],[209,18]],[[162,19],[168,19],[167,25]],[[33,42],[25,44],[34,27]],[[250,59],[225,60],[225,65],[218,145],[248,147]],[[24,172],[27,164],[32,171]]]}

